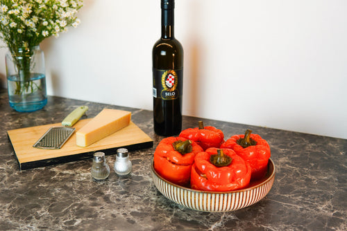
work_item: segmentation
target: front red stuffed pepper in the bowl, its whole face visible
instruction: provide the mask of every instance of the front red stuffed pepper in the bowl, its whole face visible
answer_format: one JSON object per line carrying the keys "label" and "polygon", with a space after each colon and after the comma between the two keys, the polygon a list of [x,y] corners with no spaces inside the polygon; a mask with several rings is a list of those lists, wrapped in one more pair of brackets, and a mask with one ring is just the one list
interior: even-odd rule
{"label": "front red stuffed pepper in the bowl, its whole face visible", "polygon": [[232,149],[210,148],[196,154],[190,185],[192,189],[225,192],[246,187],[251,166]]}

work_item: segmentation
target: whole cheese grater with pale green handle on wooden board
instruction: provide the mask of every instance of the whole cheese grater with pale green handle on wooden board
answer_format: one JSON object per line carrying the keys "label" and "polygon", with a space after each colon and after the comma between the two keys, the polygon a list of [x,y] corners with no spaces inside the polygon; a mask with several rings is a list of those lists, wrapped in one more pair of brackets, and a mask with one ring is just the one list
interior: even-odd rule
{"label": "whole cheese grater with pale green handle on wooden board", "polygon": [[62,145],[69,140],[75,131],[72,127],[81,118],[81,116],[88,110],[87,106],[81,106],[67,115],[67,117],[62,120],[62,126],[51,127],[43,134],[43,136],[35,142],[33,147],[40,149],[60,149]]}

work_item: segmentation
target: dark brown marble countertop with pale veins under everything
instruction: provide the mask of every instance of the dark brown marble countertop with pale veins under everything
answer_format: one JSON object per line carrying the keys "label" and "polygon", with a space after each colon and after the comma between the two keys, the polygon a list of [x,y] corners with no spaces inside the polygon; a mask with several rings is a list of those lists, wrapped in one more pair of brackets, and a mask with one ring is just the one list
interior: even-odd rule
{"label": "dark brown marble countertop with pale veins under everything", "polygon": [[[133,172],[106,181],[90,176],[92,160],[19,171],[7,130],[60,122],[77,106],[88,117],[101,109],[132,111],[133,122],[154,140],[132,151]],[[189,210],[162,196],[151,178],[151,159],[162,137],[151,111],[49,97],[40,111],[10,109],[0,90],[0,230],[347,230],[347,140],[214,120],[226,138],[253,129],[268,140],[276,179],[260,202],[234,212]],[[183,128],[199,118],[184,117]],[[111,169],[115,155],[107,156]]]}

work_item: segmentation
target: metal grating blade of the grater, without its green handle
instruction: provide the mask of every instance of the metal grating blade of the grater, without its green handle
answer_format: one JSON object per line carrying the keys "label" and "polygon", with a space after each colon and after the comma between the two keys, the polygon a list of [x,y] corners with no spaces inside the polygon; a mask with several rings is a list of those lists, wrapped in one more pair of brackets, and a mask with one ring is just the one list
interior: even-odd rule
{"label": "metal grating blade of the grater, without its green handle", "polygon": [[74,127],[51,127],[35,142],[33,147],[40,149],[60,149],[74,133]]}

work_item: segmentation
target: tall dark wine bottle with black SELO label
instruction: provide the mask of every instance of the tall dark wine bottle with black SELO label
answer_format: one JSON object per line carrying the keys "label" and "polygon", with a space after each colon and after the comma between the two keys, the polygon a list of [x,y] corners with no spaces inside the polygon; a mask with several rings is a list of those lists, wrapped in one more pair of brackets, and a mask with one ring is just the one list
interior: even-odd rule
{"label": "tall dark wine bottle with black SELO label", "polygon": [[183,46],[174,37],[174,0],[161,0],[162,36],[154,44],[153,122],[160,136],[182,129]]}

